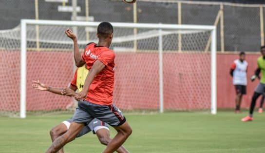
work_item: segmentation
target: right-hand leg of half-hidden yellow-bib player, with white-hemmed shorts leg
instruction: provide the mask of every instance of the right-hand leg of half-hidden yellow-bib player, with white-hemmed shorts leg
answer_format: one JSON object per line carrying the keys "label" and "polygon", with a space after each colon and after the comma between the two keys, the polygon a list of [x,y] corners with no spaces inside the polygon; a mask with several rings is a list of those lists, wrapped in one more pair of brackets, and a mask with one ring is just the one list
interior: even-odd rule
{"label": "right-hand leg of half-hidden yellow-bib player, with white-hemmed shorts leg", "polygon": [[[110,137],[110,129],[108,124],[95,118],[88,124],[89,129],[93,129],[93,133],[96,134],[99,142],[103,145],[108,145],[112,138]],[[116,150],[118,153],[129,153],[123,146],[120,146]]]}

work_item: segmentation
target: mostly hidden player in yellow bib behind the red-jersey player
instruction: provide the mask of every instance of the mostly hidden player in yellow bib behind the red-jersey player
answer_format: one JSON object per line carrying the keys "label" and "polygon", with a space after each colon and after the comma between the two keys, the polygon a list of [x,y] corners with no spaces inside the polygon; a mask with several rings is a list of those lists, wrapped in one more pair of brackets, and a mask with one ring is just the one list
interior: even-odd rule
{"label": "mostly hidden player in yellow bib behind the red-jersey player", "polygon": [[[34,84],[32,85],[33,88],[38,89],[40,91],[49,91],[51,93],[55,93],[58,95],[64,95],[64,96],[75,96],[75,91],[78,89],[78,91],[82,91],[85,78],[88,75],[88,70],[86,69],[86,66],[82,66],[76,69],[76,73],[74,78],[71,81],[69,88],[55,88],[47,86],[39,81],[33,81]],[[52,138],[52,141],[54,141],[57,137],[67,132],[67,130],[70,127],[71,122],[73,121],[72,118],[69,118],[57,126],[55,126],[51,131],[50,135]],[[108,145],[109,142],[112,140],[110,138],[110,132],[109,127],[105,122],[100,121],[99,119],[93,119],[91,122],[86,124],[82,131],[76,135],[76,137],[80,137],[84,134],[87,134],[89,132],[93,132],[98,137],[98,140],[103,145]],[[129,153],[123,146],[121,146],[119,149],[117,149],[118,153]],[[58,153],[64,153],[63,148],[58,151]]]}

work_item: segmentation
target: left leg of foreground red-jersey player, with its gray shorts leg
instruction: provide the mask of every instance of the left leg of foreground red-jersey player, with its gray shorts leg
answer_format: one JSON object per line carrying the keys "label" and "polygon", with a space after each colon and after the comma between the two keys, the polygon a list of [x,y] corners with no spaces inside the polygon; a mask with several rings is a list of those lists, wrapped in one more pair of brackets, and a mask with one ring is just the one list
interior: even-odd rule
{"label": "left leg of foreground red-jersey player, with its gray shorts leg", "polygon": [[76,138],[76,135],[84,128],[84,123],[90,122],[92,119],[93,117],[90,114],[80,108],[76,108],[69,130],[65,134],[57,137],[46,153],[57,153],[66,143]]}

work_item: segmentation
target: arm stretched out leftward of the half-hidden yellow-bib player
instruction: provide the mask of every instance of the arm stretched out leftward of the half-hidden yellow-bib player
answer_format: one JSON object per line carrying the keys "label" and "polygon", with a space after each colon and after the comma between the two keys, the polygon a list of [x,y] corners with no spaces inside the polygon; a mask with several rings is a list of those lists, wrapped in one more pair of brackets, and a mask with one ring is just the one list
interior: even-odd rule
{"label": "arm stretched out leftward of the half-hidden yellow-bib player", "polygon": [[75,96],[76,95],[75,93],[76,89],[74,89],[75,87],[72,87],[72,86],[70,86],[70,88],[56,88],[56,87],[47,86],[44,83],[41,83],[39,81],[33,80],[32,82],[33,82],[32,87],[40,91],[48,91],[54,94],[64,95],[64,96]]}

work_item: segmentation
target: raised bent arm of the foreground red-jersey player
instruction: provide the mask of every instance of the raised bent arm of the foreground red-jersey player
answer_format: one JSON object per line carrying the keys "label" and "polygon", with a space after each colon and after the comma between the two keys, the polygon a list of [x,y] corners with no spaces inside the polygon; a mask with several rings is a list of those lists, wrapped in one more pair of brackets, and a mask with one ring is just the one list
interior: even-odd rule
{"label": "raised bent arm of the foreground red-jersey player", "polygon": [[83,66],[85,62],[82,60],[81,54],[79,53],[79,47],[76,35],[69,28],[66,29],[65,34],[67,35],[67,37],[71,38],[74,41],[74,58],[76,66],[77,67]]}

